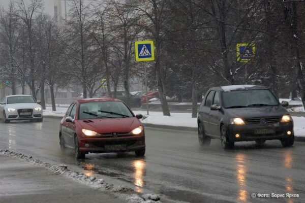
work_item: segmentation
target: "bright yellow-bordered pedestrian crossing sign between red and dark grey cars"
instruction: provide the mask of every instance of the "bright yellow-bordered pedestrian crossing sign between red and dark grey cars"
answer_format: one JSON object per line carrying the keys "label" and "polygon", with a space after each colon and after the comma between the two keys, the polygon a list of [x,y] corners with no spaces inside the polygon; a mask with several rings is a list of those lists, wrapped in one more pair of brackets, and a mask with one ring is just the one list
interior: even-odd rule
{"label": "bright yellow-bordered pedestrian crossing sign between red and dark grey cars", "polygon": [[153,41],[137,41],[135,42],[136,61],[155,60],[154,42]]}

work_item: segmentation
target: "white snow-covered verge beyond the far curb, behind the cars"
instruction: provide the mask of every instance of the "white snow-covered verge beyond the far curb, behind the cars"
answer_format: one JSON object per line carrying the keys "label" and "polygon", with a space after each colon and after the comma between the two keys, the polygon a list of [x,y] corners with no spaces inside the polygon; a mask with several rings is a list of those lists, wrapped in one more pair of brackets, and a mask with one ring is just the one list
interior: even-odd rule
{"label": "white snow-covered verge beyond the far curb, behind the cars", "polygon": [[[51,107],[44,110],[44,116],[63,117],[67,111],[67,107],[58,107],[56,112],[51,111]],[[190,113],[171,113],[171,116],[163,116],[162,112],[134,111],[135,114],[142,114],[144,118],[142,123],[149,123],[155,125],[168,126],[182,126],[182,127],[197,127],[197,118],[192,118]],[[293,116],[294,132],[296,136],[305,137],[305,117]]]}

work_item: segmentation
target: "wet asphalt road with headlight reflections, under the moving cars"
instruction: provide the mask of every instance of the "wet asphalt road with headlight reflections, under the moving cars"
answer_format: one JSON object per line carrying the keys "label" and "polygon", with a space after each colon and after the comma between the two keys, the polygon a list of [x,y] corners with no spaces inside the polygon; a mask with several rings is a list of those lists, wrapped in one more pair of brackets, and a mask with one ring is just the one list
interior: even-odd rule
{"label": "wet asphalt road with headlight reflections, under the moving cars", "polygon": [[[146,156],[89,154],[76,161],[60,152],[59,119],[43,123],[0,123],[0,149],[82,167],[188,202],[305,202],[305,143],[282,148],[279,141],[237,143],[224,151],[219,140],[204,148],[189,131],[145,128]],[[252,193],[298,194],[298,198],[252,198]]]}

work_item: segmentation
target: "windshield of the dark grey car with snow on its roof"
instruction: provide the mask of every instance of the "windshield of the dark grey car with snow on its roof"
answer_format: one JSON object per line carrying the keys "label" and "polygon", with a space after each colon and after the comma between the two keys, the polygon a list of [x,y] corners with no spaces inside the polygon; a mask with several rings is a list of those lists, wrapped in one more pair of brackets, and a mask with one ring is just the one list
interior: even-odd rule
{"label": "windshield of the dark grey car with snow on its roof", "polygon": [[278,106],[278,99],[268,89],[223,92],[225,108]]}

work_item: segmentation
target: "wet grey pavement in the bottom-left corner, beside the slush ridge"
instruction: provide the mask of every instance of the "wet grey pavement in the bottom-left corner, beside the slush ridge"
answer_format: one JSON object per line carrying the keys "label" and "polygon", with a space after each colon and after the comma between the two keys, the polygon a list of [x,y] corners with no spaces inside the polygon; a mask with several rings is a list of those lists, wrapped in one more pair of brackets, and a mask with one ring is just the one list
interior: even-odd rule
{"label": "wet grey pavement in the bottom-left corner, beside the slush ridge", "polygon": [[1,202],[124,202],[14,157],[0,155],[0,163]]}

